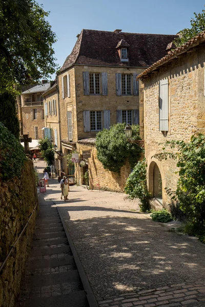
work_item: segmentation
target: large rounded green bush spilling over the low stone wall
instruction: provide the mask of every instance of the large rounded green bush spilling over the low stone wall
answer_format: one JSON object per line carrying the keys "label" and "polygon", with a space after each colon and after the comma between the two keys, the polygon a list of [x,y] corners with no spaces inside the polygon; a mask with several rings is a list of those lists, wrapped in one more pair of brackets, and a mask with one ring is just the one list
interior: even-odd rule
{"label": "large rounded green bush spilling over the low stone wall", "polygon": [[142,152],[141,147],[133,141],[140,140],[139,126],[132,125],[132,138],[127,139],[125,135],[126,124],[116,124],[110,129],[104,129],[96,135],[97,159],[105,169],[113,172],[120,171],[128,159],[130,166],[134,167]]}

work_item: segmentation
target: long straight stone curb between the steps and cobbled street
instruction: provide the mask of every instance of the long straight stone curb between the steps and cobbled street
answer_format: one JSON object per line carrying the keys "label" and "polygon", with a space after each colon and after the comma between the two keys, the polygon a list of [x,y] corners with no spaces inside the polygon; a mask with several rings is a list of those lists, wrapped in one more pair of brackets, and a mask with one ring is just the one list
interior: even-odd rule
{"label": "long straight stone curb between the steps and cobbled street", "polygon": [[67,236],[67,239],[68,239],[68,243],[70,245],[70,248],[71,248],[71,251],[72,251],[72,254],[73,254],[73,258],[75,260],[75,264],[76,264],[78,273],[80,275],[81,282],[83,283],[84,290],[86,291],[86,297],[88,299],[89,306],[90,307],[98,307],[97,301],[96,301],[95,296],[93,294],[93,291],[90,287],[88,278],[86,276],[86,273],[84,271],[83,266],[81,265],[80,259],[78,257],[77,252],[76,252],[75,246],[73,244],[73,240],[70,236],[70,233],[68,232],[66,223],[65,223],[64,218],[63,218],[63,215],[61,214],[58,206],[57,206],[57,210],[58,210],[58,213],[59,213],[59,216],[60,216],[60,220],[63,224],[64,230],[65,230],[65,233],[66,233],[66,236]]}

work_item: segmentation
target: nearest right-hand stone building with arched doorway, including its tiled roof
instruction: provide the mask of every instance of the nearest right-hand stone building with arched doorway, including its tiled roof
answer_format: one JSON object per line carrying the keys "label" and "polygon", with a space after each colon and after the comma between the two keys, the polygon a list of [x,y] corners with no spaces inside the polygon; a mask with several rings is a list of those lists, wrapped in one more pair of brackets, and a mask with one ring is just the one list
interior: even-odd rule
{"label": "nearest right-hand stone building with arched doorway, including its tiled roof", "polygon": [[[148,188],[153,205],[170,203],[165,187],[176,189],[176,161],[153,158],[162,152],[163,142],[190,141],[205,133],[204,63],[205,32],[151,65],[137,76],[141,80],[141,112],[144,105],[145,156]],[[170,149],[172,150],[172,149]]]}

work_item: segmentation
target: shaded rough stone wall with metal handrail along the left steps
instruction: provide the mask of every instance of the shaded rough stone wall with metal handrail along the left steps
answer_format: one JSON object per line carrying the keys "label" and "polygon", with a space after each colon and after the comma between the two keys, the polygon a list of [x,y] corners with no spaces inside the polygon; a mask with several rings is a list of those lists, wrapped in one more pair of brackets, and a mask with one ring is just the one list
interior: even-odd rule
{"label": "shaded rough stone wall with metal handrail along the left steps", "polygon": [[[0,266],[36,204],[37,191],[33,163],[27,161],[19,179],[11,178],[7,183],[0,181]],[[0,273],[1,307],[15,305],[20,290],[20,279],[25,271],[29,247],[32,242],[37,209],[38,206]]]}

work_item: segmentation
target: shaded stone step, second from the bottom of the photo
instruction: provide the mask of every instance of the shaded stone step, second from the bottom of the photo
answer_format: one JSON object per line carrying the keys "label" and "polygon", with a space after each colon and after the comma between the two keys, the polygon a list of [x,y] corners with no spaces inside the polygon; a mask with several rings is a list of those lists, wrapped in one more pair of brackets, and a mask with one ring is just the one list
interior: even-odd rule
{"label": "shaded stone step, second from the bottom of the photo", "polygon": [[[28,275],[25,278],[26,288],[35,288],[35,287],[47,287],[53,286],[53,284],[62,284],[67,283],[67,288],[70,289],[70,292],[83,290],[82,286],[80,288],[81,282],[77,270],[71,270],[69,272],[60,272],[57,274],[49,275]],[[75,283],[72,285],[72,283]],[[69,287],[70,284],[71,286]],[[76,289],[74,289],[76,287]],[[71,291],[71,288],[73,289]],[[40,291],[42,292],[42,291]]]}

